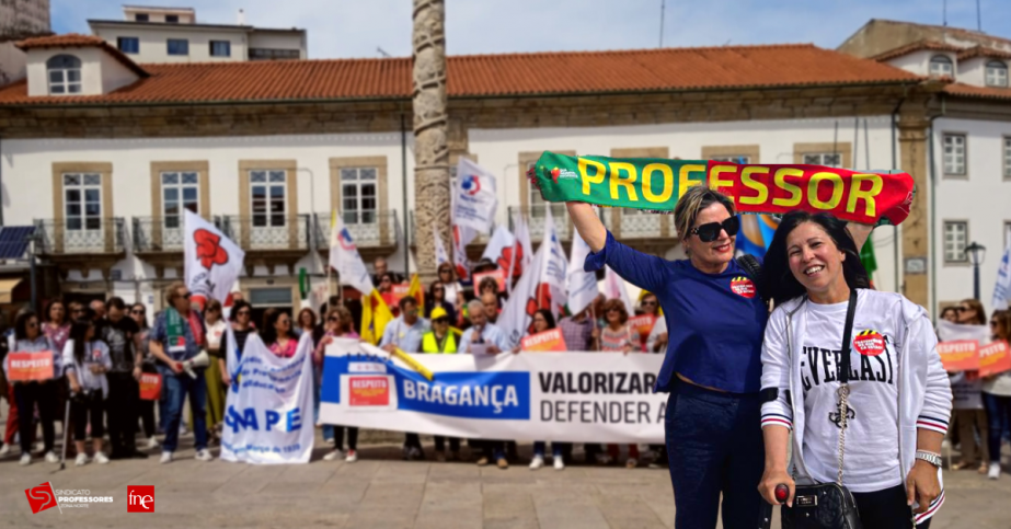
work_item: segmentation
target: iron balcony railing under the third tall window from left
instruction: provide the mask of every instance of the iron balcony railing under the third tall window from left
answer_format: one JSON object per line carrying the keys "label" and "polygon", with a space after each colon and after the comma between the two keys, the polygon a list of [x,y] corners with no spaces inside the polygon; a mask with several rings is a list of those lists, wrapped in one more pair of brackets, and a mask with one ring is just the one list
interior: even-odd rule
{"label": "iron balcony railing under the third tall window from left", "polygon": [[221,217],[220,228],[243,250],[309,250],[311,215]]}

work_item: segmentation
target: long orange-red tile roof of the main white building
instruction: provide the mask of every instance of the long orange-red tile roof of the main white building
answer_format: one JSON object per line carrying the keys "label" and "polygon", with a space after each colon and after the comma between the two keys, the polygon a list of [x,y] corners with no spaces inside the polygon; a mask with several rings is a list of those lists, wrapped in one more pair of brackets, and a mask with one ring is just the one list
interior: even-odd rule
{"label": "long orange-red tile roof of the main white building", "polygon": [[[410,58],[143,65],[150,78],[105,95],[28,97],[0,105],[409,99]],[[915,83],[907,71],[813,45],[456,56],[450,97],[666,92]]]}

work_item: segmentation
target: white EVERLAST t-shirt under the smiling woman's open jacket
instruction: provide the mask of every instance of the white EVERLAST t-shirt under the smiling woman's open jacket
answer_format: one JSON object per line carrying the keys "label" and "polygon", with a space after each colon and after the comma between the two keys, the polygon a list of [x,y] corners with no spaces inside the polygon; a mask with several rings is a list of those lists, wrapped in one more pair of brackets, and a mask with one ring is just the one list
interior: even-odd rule
{"label": "white EVERLAST t-shirt under the smiling woman's open jacket", "polygon": [[[799,361],[804,386],[804,464],[811,478],[834,483],[839,472],[838,366],[847,302],[807,303],[807,324]],[[901,483],[898,453],[896,355],[887,336],[853,330],[850,347],[850,412],[842,483],[853,492],[874,492]],[[882,348],[881,345],[884,344]]]}

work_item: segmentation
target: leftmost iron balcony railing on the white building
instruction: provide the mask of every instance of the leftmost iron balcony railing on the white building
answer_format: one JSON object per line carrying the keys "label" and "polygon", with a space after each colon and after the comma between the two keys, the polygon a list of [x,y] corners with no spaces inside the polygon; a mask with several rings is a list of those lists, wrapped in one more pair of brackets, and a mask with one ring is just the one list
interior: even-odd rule
{"label": "leftmost iron balcony railing on the white building", "polygon": [[122,253],[126,242],[122,218],[35,219],[37,252],[47,255]]}

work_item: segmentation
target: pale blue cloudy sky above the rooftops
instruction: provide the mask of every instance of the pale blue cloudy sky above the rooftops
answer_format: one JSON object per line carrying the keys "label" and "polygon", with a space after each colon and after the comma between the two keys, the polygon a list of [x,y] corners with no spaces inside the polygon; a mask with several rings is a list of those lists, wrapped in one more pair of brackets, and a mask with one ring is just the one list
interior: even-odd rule
{"label": "pale blue cloudy sky above the rooftops", "polygon": [[[652,48],[662,0],[447,0],[452,55]],[[666,0],[665,46],[815,43],[834,48],[870,19],[940,24],[944,0]],[[976,0],[946,0],[949,25],[976,27]],[[303,27],[309,57],[411,54],[411,0],[51,0],[53,28],[89,33],[122,3],[193,7],[197,21]],[[1011,37],[1011,2],[980,0],[983,30]]]}

